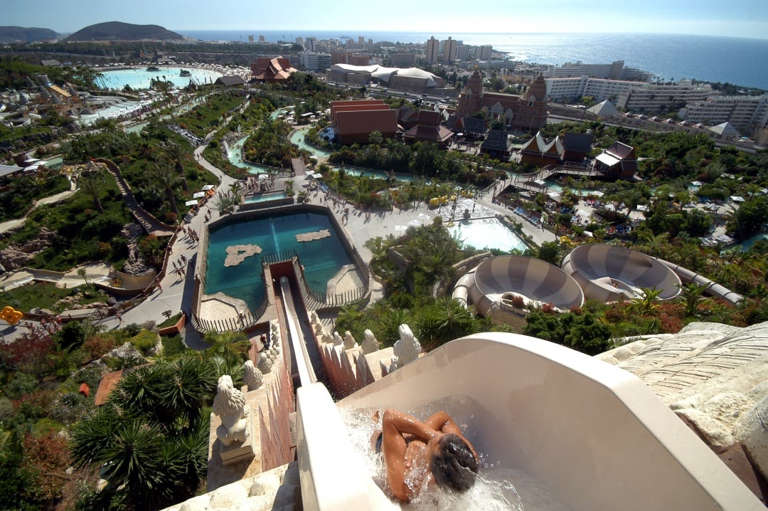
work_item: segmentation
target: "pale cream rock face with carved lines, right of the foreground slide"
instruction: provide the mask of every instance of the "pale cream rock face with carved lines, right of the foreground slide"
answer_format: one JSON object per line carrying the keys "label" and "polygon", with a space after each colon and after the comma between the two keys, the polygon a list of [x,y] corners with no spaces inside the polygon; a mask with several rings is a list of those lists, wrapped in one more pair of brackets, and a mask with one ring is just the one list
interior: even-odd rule
{"label": "pale cream rock face with carved lines, right of the foreground slide", "polygon": [[643,380],[716,453],[741,444],[768,476],[768,322],[691,323],[597,358]]}

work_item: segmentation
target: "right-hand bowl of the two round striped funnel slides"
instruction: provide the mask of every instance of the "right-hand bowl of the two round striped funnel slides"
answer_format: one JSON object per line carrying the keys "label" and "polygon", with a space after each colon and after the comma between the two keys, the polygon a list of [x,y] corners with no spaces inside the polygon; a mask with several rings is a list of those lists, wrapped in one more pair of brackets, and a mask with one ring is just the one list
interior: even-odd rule
{"label": "right-hand bowl of the two round striped funnel slides", "polygon": [[660,260],[642,252],[607,244],[580,245],[561,264],[574,277],[588,300],[632,300],[642,289],[660,290],[658,298],[680,294],[680,277]]}

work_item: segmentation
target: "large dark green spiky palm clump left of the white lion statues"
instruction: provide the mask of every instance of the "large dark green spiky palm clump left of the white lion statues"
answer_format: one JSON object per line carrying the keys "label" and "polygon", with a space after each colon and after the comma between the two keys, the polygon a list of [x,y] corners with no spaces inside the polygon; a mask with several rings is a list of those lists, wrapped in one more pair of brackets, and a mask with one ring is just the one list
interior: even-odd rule
{"label": "large dark green spiky palm clump left of the white lion statues", "polygon": [[107,481],[94,502],[158,509],[194,495],[207,468],[215,387],[212,368],[195,358],[125,375],[71,433],[74,466],[100,466]]}

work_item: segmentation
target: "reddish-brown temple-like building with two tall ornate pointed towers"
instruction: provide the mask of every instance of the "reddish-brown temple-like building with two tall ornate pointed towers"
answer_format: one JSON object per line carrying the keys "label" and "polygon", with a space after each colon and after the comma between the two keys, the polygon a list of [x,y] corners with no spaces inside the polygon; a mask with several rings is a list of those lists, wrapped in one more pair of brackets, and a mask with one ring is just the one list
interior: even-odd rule
{"label": "reddish-brown temple-like building with two tall ornate pointed towers", "polygon": [[485,112],[486,121],[502,121],[508,128],[537,131],[547,124],[547,84],[539,75],[522,96],[486,92],[480,71],[475,69],[467,86],[458,95],[458,118]]}

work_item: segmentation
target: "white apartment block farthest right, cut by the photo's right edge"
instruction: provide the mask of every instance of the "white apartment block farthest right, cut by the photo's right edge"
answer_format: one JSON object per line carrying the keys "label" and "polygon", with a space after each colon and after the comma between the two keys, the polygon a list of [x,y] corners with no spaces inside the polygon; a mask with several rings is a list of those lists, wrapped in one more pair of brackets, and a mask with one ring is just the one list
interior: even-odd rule
{"label": "white apartment block farthest right, cut by the photo's right edge", "polygon": [[680,118],[715,125],[730,122],[734,128],[751,134],[768,124],[768,94],[761,96],[714,96],[689,103]]}

